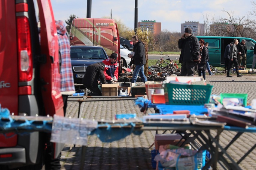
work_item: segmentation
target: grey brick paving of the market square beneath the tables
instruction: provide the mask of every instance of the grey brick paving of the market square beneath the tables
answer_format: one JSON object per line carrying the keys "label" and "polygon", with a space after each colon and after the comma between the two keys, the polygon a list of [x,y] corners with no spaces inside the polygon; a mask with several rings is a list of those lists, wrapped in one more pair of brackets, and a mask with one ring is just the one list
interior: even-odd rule
{"label": "grey brick paving of the market square beneath the tables", "polygon": [[[247,93],[248,103],[255,97],[256,76],[243,76],[227,78],[225,75],[206,76],[206,83],[214,85],[212,94],[220,93]],[[82,117],[85,119],[107,119],[114,118],[116,113],[136,113],[142,117],[138,106],[134,101],[101,101],[86,102]],[[148,113],[154,113],[150,108]],[[78,102],[68,102],[67,116],[77,117]],[[161,132],[160,132],[161,133]],[[170,133],[170,132],[168,132]],[[211,133],[216,133],[211,131]],[[154,142],[154,131],[144,131],[140,136],[129,135],[119,141],[103,143],[96,136],[88,137],[88,147],[86,150],[85,170],[147,170],[151,167],[151,149],[149,146]],[[224,131],[220,136],[220,144],[226,145],[235,133]],[[228,153],[237,160],[237,156],[242,156],[248,148],[254,144],[256,133],[244,133],[227,150]],[[70,145],[66,144],[62,151],[62,170],[80,169],[81,165],[81,145],[70,150]],[[256,149],[243,160],[239,166],[243,170],[256,169]],[[223,169],[218,164],[218,169]]]}

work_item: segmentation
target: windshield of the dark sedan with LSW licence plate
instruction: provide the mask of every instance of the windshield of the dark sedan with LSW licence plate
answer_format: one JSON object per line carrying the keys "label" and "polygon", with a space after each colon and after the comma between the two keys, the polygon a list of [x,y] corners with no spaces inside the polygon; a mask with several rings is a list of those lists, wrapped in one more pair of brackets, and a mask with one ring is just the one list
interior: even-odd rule
{"label": "windshield of the dark sedan with LSW licence plate", "polygon": [[99,48],[71,48],[70,57],[76,59],[106,59],[104,51]]}

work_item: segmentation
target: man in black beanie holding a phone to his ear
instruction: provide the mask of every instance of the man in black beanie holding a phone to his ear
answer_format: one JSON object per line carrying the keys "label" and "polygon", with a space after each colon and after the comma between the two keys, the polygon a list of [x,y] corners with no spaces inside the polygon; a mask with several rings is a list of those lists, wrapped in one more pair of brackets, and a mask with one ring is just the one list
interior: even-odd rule
{"label": "man in black beanie holding a phone to his ear", "polygon": [[178,41],[178,46],[181,48],[179,58],[179,63],[182,63],[181,76],[194,76],[195,63],[193,56],[198,55],[200,44],[197,37],[192,34],[191,28],[185,28],[184,32],[185,34]]}

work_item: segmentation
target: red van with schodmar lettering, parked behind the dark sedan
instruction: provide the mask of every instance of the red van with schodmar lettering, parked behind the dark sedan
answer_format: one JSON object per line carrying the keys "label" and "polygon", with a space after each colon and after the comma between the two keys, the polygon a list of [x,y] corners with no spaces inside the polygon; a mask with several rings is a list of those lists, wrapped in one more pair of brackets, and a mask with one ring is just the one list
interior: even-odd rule
{"label": "red van with schodmar lettering, parked behind the dark sedan", "polygon": [[120,61],[120,40],[114,19],[75,18],[70,28],[70,45],[100,45],[108,57],[115,52],[118,55],[119,74],[122,71]]}

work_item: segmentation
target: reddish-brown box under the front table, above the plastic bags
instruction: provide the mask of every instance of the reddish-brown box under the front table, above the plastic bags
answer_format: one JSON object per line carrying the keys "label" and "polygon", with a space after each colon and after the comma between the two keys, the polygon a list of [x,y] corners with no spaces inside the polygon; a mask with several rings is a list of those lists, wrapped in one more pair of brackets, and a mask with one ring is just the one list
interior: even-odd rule
{"label": "reddish-brown box under the front table, above the plastic bags", "polygon": [[[181,136],[178,133],[156,134],[155,149],[158,150],[160,145],[167,145],[167,144],[177,145],[180,139],[181,139]],[[182,144],[182,142],[180,142],[179,144]]]}

